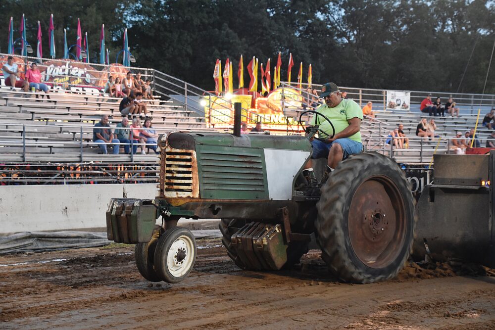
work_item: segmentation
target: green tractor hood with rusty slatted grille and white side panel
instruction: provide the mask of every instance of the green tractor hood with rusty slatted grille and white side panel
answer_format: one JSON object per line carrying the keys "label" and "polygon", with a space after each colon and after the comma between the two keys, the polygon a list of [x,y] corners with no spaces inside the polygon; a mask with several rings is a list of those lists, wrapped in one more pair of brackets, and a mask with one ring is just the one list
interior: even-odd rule
{"label": "green tractor hood with rusty slatted grille and white side panel", "polygon": [[301,136],[170,133],[160,137],[158,198],[290,200],[311,155]]}

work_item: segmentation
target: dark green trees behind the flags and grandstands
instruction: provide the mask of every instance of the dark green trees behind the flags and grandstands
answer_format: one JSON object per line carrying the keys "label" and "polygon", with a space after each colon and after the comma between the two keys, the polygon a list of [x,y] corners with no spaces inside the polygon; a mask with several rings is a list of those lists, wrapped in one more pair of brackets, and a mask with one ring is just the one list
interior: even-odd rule
{"label": "dark green trees behind the flags and grandstands", "polygon": [[[480,93],[495,39],[495,3],[489,0],[3,0],[3,51],[8,18],[14,16],[17,30],[23,12],[34,45],[36,21],[42,22],[45,54],[51,12],[57,54],[63,49],[64,27],[69,44],[75,43],[77,17],[83,32],[88,31],[92,58],[97,57],[101,23],[112,61],[122,47],[123,29],[129,27],[136,65],[209,90],[216,58],[223,64],[229,57],[236,72],[241,54],[245,65],[253,55],[261,63],[271,58],[273,70],[281,51],[282,80],[292,52],[293,81],[302,61],[304,80],[311,63],[314,82]],[[495,93],[491,71],[487,93]]]}

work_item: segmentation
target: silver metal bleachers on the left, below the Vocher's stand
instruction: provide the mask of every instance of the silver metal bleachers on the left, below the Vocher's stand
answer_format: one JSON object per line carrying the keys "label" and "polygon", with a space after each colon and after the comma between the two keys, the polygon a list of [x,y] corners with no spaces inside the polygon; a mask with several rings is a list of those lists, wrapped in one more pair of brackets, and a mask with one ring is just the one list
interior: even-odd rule
{"label": "silver metal bleachers on the left, below the Vocher's stand", "polygon": [[[36,98],[38,96],[38,98]],[[156,162],[153,152],[146,155],[99,154],[92,142],[93,126],[102,115],[109,116],[112,128],[122,120],[121,98],[107,95],[54,92],[22,92],[0,89],[0,161],[115,161]],[[217,132],[206,128],[202,117],[171,101],[144,100],[153,128],[169,131]],[[148,150],[149,151],[149,150]]]}

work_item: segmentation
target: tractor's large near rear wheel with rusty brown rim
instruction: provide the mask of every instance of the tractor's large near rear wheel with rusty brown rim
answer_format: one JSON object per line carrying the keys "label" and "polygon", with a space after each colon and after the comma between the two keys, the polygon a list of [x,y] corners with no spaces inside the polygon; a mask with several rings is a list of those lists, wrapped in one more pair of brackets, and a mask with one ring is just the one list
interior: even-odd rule
{"label": "tractor's large near rear wheel with rusty brown rim", "polygon": [[341,280],[385,281],[403,268],[414,237],[414,198],[391,158],[370,152],[342,161],[316,206],[322,257]]}

